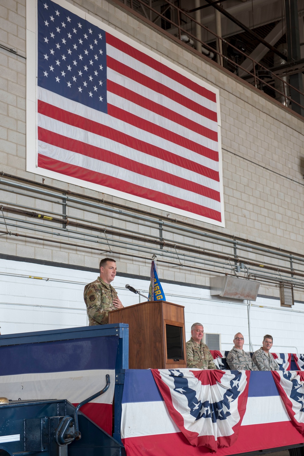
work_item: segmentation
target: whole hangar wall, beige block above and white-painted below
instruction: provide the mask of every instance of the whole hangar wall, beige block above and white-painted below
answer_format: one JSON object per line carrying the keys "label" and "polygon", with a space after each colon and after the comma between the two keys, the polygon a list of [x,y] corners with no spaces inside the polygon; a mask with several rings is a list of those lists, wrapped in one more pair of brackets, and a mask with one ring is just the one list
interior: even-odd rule
{"label": "whole hangar wall, beige block above and white-painted below", "polygon": [[[304,255],[303,237],[304,237],[304,209],[303,209],[303,152],[302,145],[304,139],[303,130],[303,119],[299,118],[295,114],[291,113],[287,109],[283,109],[271,101],[269,98],[263,96],[262,93],[251,89],[246,86],[245,83],[238,81],[237,78],[223,72],[221,69],[213,65],[204,59],[197,57],[196,55],[188,52],[185,48],[179,46],[177,43],[170,41],[167,37],[162,36],[156,30],[149,28],[146,24],[135,17],[128,15],[126,11],[122,10],[118,6],[111,4],[110,1],[99,0],[91,2],[88,0],[74,1],[74,5],[79,6],[82,10],[85,10],[100,18],[106,24],[113,26],[117,30],[121,31],[126,36],[131,36],[133,39],[141,43],[142,45],[154,50],[159,55],[166,57],[172,62],[175,62],[180,67],[186,69],[190,73],[202,78],[204,81],[213,84],[220,91],[220,110],[222,120],[222,152],[223,152],[223,186],[224,186],[224,208],[225,208],[225,228],[216,228],[207,223],[201,223],[190,219],[185,219],[174,214],[167,214],[162,211],[153,209],[153,213],[159,217],[160,220],[167,220],[167,218],[176,218],[178,222],[182,223],[193,223],[199,229],[214,229],[218,234],[228,234],[229,236],[240,236],[244,239],[249,239],[253,242],[264,244],[266,247],[283,248],[291,252],[291,254]],[[2,0],[0,5],[0,43],[8,48],[15,48],[20,56],[25,56],[25,0]],[[59,187],[64,191],[72,191],[85,195],[86,197],[105,198],[108,202],[121,203],[130,208],[130,211],[146,211],[152,213],[152,209],[145,207],[133,202],[120,200],[113,198],[109,195],[99,194],[88,190],[83,187],[76,187],[70,184],[66,184],[63,181],[55,181],[44,176],[34,175],[25,171],[25,58],[19,57],[14,53],[8,52],[4,48],[0,48],[0,171],[8,173],[13,176],[18,176],[25,179],[30,179],[39,183],[44,183],[50,186]],[[30,192],[28,189],[24,189],[19,192],[13,192],[13,188],[4,183],[5,178],[0,176],[1,192],[0,204],[9,205],[14,207],[27,208],[28,210],[39,210],[51,214],[60,214],[62,210],[61,201],[59,199],[53,199],[47,201],[46,198],[38,197],[37,194]],[[60,209],[60,210],[59,210]],[[71,215],[83,218],[85,210],[81,206],[75,206],[71,209]],[[138,212],[134,212],[134,214]],[[25,221],[29,221],[30,218],[24,216],[18,218],[4,212],[6,221],[9,221],[9,229],[15,233],[29,233],[29,224]],[[1,229],[4,228],[4,217],[1,216]],[[10,219],[8,219],[10,217]],[[107,225],[115,225],[118,230],[131,229],[142,235],[154,235],[154,231],[145,223],[137,223],[138,219],[133,218],[128,221],[123,218],[112,218],[111,212],[105,215],[91,213],[91,218],[98,223],[107,223]],[[21,220],[21,221],[20,221]],[[58,238],[56,230],[59,230],[59,225],[56,228],[50,227],[44,221],[41,222],[41,227],[44,231],[40,233],[40,239],[21,238],[16,236],[1,235],[0,236],[0,253],[4,255],[10,255],[10,257],[18,256],[21,258],[33,258],[39,260],[45,260],[47,262],[64,263],[66,265],[76,265],[80,268],[98,268],[101,251],[106,250],[104,244],[100,251],[93,251],[90,248],[83,249],[72,246],[65,246],[63,244],[51,244],[46,239]],[[188,225],[185,225],[187,227]],[[35,229],[37,228],[35,225]],[[33,226],[31,225],[31,228]],[[158,229],[158,227],[157,227]],[[79,228],[75,228],[80,232]],[[33,233],[31,231],[31,233]],[[2,233],[3,234],[3,233]],[[35,231],[37,235],[37,231]],[[191,241],[186,234],[171,233],[172,242],[184,242],[190,243],[192,246],[196,246],[196,239],[193,237]],[[125,238],[116,237],[118,241],[124,241]],[[104,240],[104,239],[103,239]],[[85,243],[86,241],[83,241]],[[134,247],[132,248],[132,243]],[[133,274],[137,276],[148,276],[150,270],[150,261],[146,259],[149,254],[152,254],[156,249],[142,245],[140,247],[135,246],[136,241],[128,240],[121,242],[120,247],[113,249],[115,258],[118,261],[118,267],[122,274]],[[144,243],[143,243],[144,244]],[[117,244],[118,245],[118,244]],[[210,244],[211,245],[211,244]],[[145,248],[144,248],[145,247]],[[133,250],[132,250],[133,249]],[[131,250],[133,256],[131,256]],[[136,257],[134,254],[136,250]],[[228,251],[227,246],[222,246],[223,252]],[[129,253],[129,255],[128,255]],[[160,258],[162,258],[162,252],[160,249],[156,252]],[[159,276],[161,279],[170,280],[172,288],[175,289],[178,286],[174,285],[174,282],[191,283],[199,286],[209,285],[209,275],[214,275],[213,270],[221,268],[217,264],[207,264],[205,269],[202,270],[195,268],[198,263],[193,260],[193,268],[189,268],[190,262],[187,263],[187,258],[183,259],[183,266],[178,266],[178,259],[181,258],[181,251],[178,249],[171,249],[170,254],[174,256],[177,267],[173,267],[172,264],[158,263]],[[177,256],[179,254],[179,257]],[[102,254],[103,255],[103,254]],[[257,254],[252,251],[248,254],[251,259],[257,259]],[[279,260],[272,257],[267,258],[265,261],[270,262],[273,266],[279,264]],[[303,259],[299,260],[297,268],[301,270],[303,268]],[[1,266],[5,270],[7,264],[1,263]],[[227,262],[229,267],[229,262]],[[28,270],[28,263],[25,261],[23,266],[20,266],[18,262],[18,268],[15,266],[12,269]],[[32,264],[30,266],[32,268]],[[58,276],[58,270],[51,269],[52,274]],[[11,269],[9,267],[8,269]],[[232,266],[231,266],[232,269]],[[43,275],[43,268],[35,265],[33,274]],[[81,269],[80,269],[81,270]],[[54,272],[55,271],[55,272]],[[65,269],[65,277],[71,279],[74,276],[74,272],[69,272],[69,269]],[[74,270],[73,270],[74,271]],[[46,271],[47,272],[47,271]],[[231,272],[231,270],[230,270]],[[69,275],[70,274],[70,275]],[[78,273],[77,273],[78,274]],[[80,274],[80,273],[79,273]],[[87,272],[83,272],[81,275],[81,282],[91,280],[88,277]],[[47,274],[46,274],[47,275]],[[5,277],[5,279],[3,279]],[[79,276],[80,277],[80,276]],[[91,276],[90,276],[91,277]],[[95,275],[94,275],[95,277]],[[116,286],[121,286],[122,276],[116,279]],[[13,303],[23,304],[21,297],[18,298],[18,293],[12,293],[12,280],[7,276],[1,276],[1,280],[5,280],[5,297],[3,297],[3,303],[10,302],[10,295],[15,296]],[[21,279],[20,279],[21,280]],[[24,279],[25,280],[25,279]],[[27,279],[29,280],[29,279]],[[139,280],[139,279],[138,279]],[[299,310],[302,308],[300,301],[303,300],[303,286],[299,279],[299,286],[295,287],[295,299],[299,301],[296,306],[299,306]],[[26,280],[25,280],[26,282]],[[300,283],[301,282],[301,283]],[[14,284],[17,283],[14,281]],[[45,282],[44,286],[49,286]],[[41,285],[40,283],[39,286]],[[70,284],[71,285],[71,284]],[[69,289],[70,285],[62,285],[62,289]],[[124,282],[122,283],[123,288]],[[147,286],[139,283],[143,289],[147,290]],[[29,285],[30,286],[30,285]],[[34,285],[31,285],[34,286]],[[35,285],[35,287],[38,285]],[[74,287],[74,285],[72,285]],[[76,286],[76,285],[75,285]],[[78,286],[78,285],[77,285]],[[80,285],[79,285],[80,286]],[[82,285],[81,285],[82,286]],[[81,288],[80,286],[80,288]],[[167,288],[166,288],[167,287]],[[168,284],[164,285],[165,293],[173,293]],[[22,287],[21,287],[22,288]],[[76,287],[77,288],[77,287]],[[73,288],[73,292],[76,288]],[[52,285],[53,289],[53,285]],[[30,288],[25,288],[30,290]],[[47,289],[48,290],[48,289]],[[197,288],[187,287],[187,292],[191,290],[191,299],[196,296]],[[215,311],[215,300],[213,305],[210,305],[210,296],[206,289],[204,290],[205,298],[207,301],[198,303],[191,301],[191,311],[186,310],[187,314],[187,332],[189,332],[189,325],[191,321],[203,320],[204,324],[208,326],[206,328],[208,332],[221,332],[222,343],[228,343],[231,335],[235,332],[234,327],[238,326],[238,329],[246,333],[247,328],[247,308],[245,303],[231,304],[228,306],[224,303],[220,306],[220,311]],[[32,299],[35,298],[35,293],[30,292],[27,298],[30,298],[30,303],[34,302]],[[80,311],[81,299],[78,294],[73,298],[73,306],[78,310],[67,310],[64,307],[72,307],[71,301],[67,299],[62,290],[56,291],[61,301],[60,316],[55,317],[53,322],[49,321],[54,327],[60,325],[71,326],[68,323],[73,321],[72,326],[83,324],[83,307]],[[33,293],[31,295],[31,293]],[[54,289],[55,293],[55,289]],[[69,293],[69,292],[67,292]],[[178,293],[182,296],[185,293],[182,288]],[[178,295],[177,293],[177,295]],[[206,294],[207,293],[207,294]],[[275,299],[260,298],[265,306],[269,306],[269,310],[256,310],[252,312],[253,321],[255,321],[255,328],[258,331],[254,333],[254,337],[260,339],[263,332],[277,331],[273,334],[276,339],[282,343],[282,350],[284,346],[290,346],[291,340],[296,343],[296,347],[299,349],[299,340],[295,340],[294,332],[295,328],[303,334],[303,319],[301,313],[294,312],[295,307],[291,310],[271,310],[270,307],[278,306],[279,289],[278,285],[274,282],[263,282],[260,288],[261,295],[273,296]],[[43,295],[47,294],[47,291]],[[173,293],[174,295],[174,293]],[[188,293],[186,293],[188,296]],[[172,296],[173,297],[173,296]],[[205,299],[204,298],[204,299]],[[38,297],[35,298],[37,303]],[[126,299],[130,300],[130,297]],[[178,302],[178,296],[175,296],[175,302]],[[54,298],[55,300],[55,298]],[[190,302],[190,301],[189,301]],[[76,304],[77,303],[77,304]],[[208,303],[208,304],[206,304]],[[242,304],[242,305],[241,305]],[[217,306],[219,304],[217,303]],[[190,306],[190,305],[189,305]],[[15,314],[12,317],[8,317],[11,312],[11,307],[1,304],[1,321],[5,321],[9,332],[19,332],[17,326],[19,324],[25,324],[26,321],[30,325],[39,325],[47,322],[46,314],[38,317],[38,311],[28,310],[34,312],[31,316],[26,316],[23,321],[23,316],[27,311],[23,310],[24,314],[18,311],[18,308],[14,309]],[[5,316],[4,316],[5,309]],[[53,307],[51,307],[53,309]],[[194,311],[192,311],[192,309]],[[55,311],[46,309],[43,312],[48,312],[51,318],[51,314]],[[74,312],[74,314],[73,314]],[[223,312],[223,314],[222,314]],[[256,313],[254,313],[256,312]],[[55,312],[56,313],[56,312]],[[18,319],[20,315],[20,321]],[[229,314],[229,323],[227,324]],[[71,315],[71,321],[69,316]],[[200,318],[198,318],[200,316]],[[276,318],[278,317],[278,321]],[[288,316],[288,318],[287,318]],[[59,320],[56,323],[56,318]],[[218,323],[222,319],[222,323]],[[15,321],[11,321],[15,320]],[[275,323],[274,323],[275,322]],[[17,326],[10,326],[11,324]],[[297,326],[299,325],[299,327]],[[18,326],[19,327],[19,326]],[[30,327],[30,326],[23,326]],[[31,326],[38,329],[37,326]],[[219,329],[220,328],[220,329]],[[42,329],[39,326],[39,329]],[[227,336],[227,337],[226,337]],[[228,340],[229,337],[229,340]],[[303,337],[302,337],[303,338]],[[301,339],[302,340],[302,339]],[[257,340],[253,341],[254,344],[259,345],[260,342]],[[223,346],[223,348],[225,348]]]}

